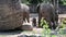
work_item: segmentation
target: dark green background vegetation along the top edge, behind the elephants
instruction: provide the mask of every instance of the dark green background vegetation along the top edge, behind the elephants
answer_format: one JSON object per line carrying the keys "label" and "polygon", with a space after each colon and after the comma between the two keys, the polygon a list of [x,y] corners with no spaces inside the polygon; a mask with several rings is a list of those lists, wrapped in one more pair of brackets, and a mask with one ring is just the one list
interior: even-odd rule
{"label": "dark green background vegetation along the top edge, behind the elephants", "polygon": [[[37,4],[37,3],[41,3],[41,2],[51,2],[53,0],[21,0],[22,3],[25,3],[25,4]],[[59,1],[59,4],[63,4],[63,5],[66,5],[66,0],[58,0]]]}

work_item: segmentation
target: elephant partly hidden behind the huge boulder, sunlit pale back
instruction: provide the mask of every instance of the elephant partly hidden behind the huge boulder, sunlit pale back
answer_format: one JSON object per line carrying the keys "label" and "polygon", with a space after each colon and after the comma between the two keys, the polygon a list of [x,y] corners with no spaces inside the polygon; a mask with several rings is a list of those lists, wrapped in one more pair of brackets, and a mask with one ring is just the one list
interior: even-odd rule
{"label": "elephant partly hidden behind the huge boulder, sunlit pale back", "polygon": [[28,22],[30,22],[30,8],[29,8],[29,5],[21,3],[21,9],[22,9],[23,22],[25,22],[25,20]]}

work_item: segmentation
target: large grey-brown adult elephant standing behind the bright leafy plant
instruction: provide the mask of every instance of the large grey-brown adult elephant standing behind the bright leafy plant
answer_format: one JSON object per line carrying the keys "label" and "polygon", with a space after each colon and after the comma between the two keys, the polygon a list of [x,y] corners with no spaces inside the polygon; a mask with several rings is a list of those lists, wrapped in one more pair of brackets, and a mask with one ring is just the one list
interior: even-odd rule
{"label": "large grey-brown adult elephant standing behind the bright leafy plant", "polygon": [[53,4],[50,3],[41,3],[37,5],[37,12],[38,12],[38,25],[42,17],[45,17],[45,20],[48,22],[50,28],[56,28],[55,22],[57,22],[57,15],[54,12]]}

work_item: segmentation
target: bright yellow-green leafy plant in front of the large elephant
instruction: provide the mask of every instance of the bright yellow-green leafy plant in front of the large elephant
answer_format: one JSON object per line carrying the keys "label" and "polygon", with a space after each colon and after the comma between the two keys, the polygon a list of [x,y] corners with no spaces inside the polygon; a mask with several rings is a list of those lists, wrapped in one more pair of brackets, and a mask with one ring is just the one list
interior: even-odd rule
{"label": "bright yellow-green leafy plant in front of the large elephant", "polygon": [[47,35],[51,34],[51,29],[48,28],[48,23],[44,20],[44,17],[42,17],[42,20],[41,20],[41,26],[42,25],[43,25],[42,36],[43,37],[45,37],[45,36],[47,37]]}

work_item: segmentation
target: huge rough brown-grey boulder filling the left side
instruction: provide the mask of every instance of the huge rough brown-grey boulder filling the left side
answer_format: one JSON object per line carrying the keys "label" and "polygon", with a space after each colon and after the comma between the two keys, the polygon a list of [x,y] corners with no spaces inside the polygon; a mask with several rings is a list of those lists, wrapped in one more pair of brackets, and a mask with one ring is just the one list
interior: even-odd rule
{"label": "huge rough brown-grey boulder filling the left side", "polygon": [[0,30],[22,26],[22,12],[19,0],[0,0]]}

